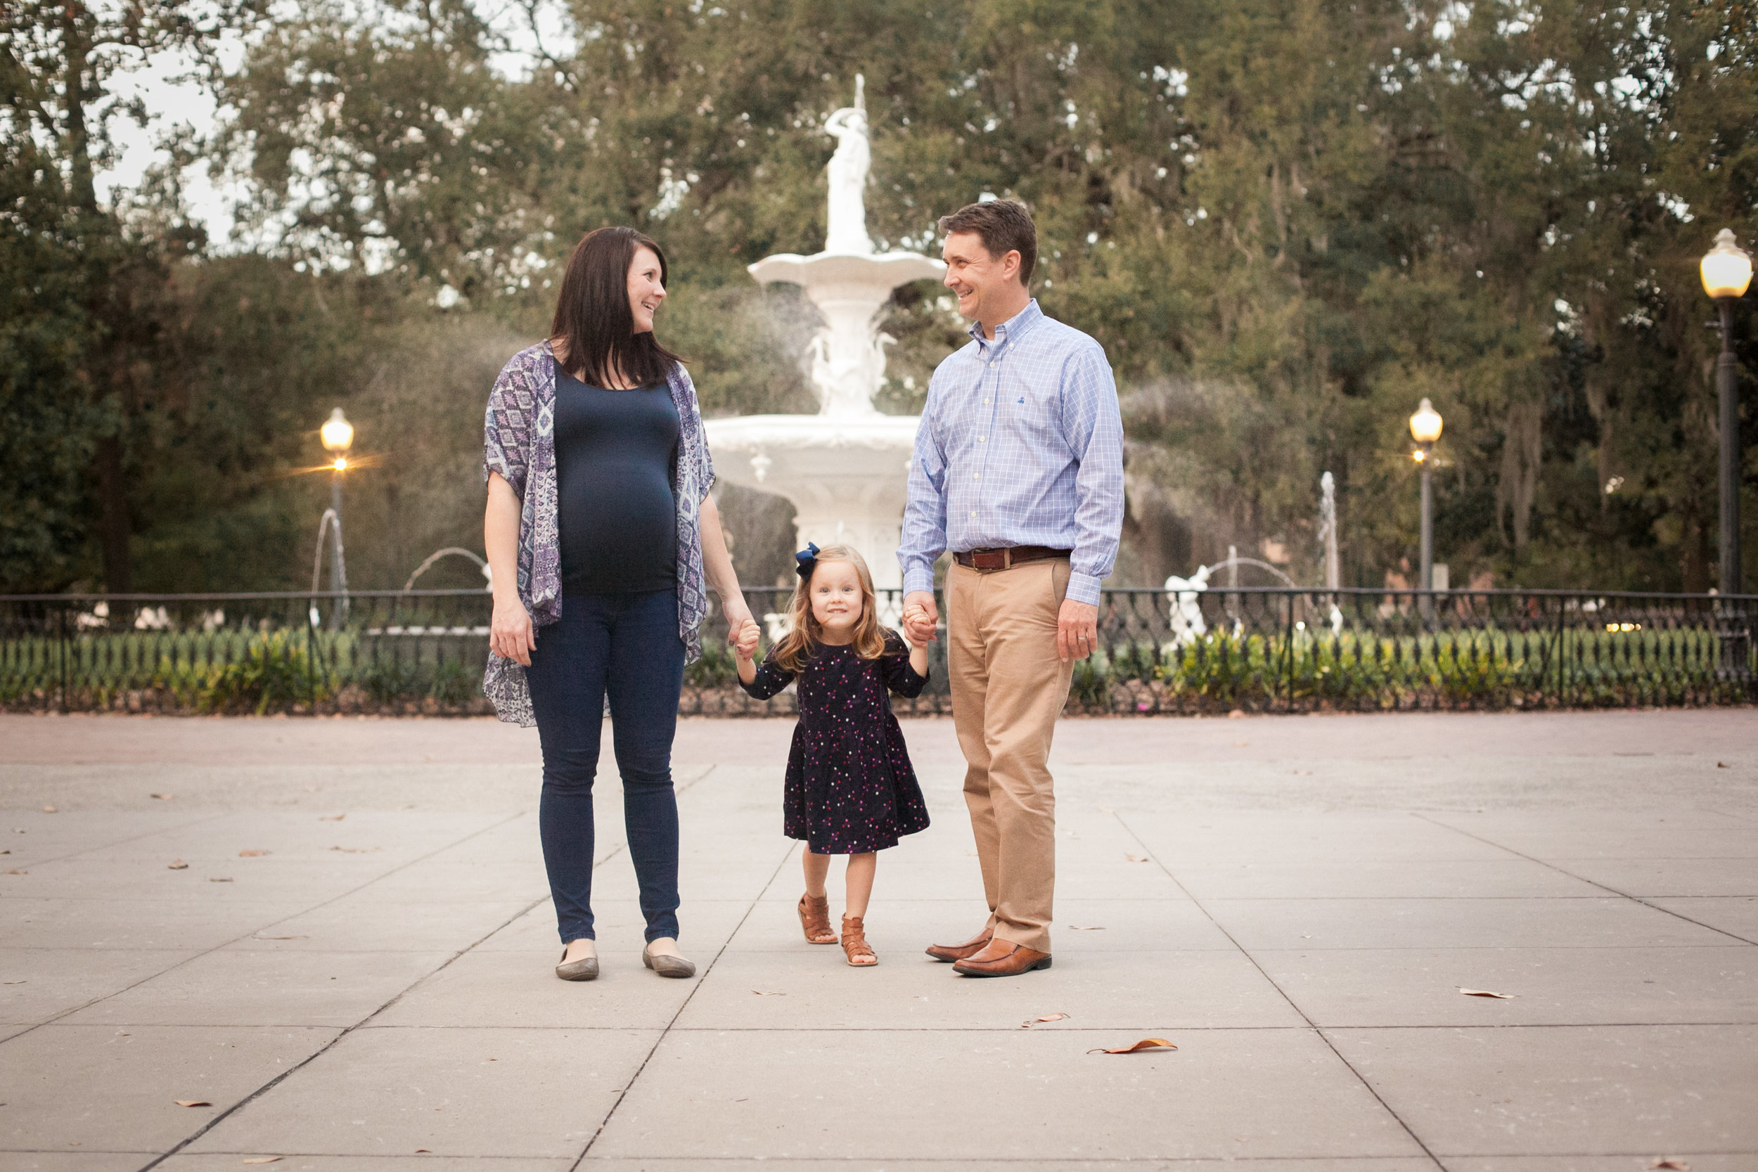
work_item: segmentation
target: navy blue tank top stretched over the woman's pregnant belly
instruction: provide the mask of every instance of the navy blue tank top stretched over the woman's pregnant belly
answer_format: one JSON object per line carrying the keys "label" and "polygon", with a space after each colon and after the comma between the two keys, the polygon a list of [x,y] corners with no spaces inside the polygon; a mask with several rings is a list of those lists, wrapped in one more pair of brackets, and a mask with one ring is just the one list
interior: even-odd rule
{"label": "navy blue tank top stretched over the woman's pregnant belly", "polygon": [[677,587],[677,406],[665,383],[605,390],[556,365],[564,594]]}

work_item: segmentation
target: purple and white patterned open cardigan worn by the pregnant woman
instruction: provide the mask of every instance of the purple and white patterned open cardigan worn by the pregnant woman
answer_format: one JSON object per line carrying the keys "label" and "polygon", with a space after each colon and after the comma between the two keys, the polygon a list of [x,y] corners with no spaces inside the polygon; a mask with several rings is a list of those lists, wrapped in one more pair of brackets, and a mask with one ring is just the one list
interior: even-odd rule
{"label": "purple and white patterned open cardigan worn by the pregnant woman", "polygon": [[[677,404],[677,626],[684,661],[701,659],[701,620],[708,615],[708,592],[701,569],[698,510],[714,487],[714,460],[701,429],[696,387],[682,365],[666,378]],[[519,494],[519,601],[531,611],[538,638],[561,619],[561,529],[556,494],[556,364],[548,343],[520,350],[494,380],[483,423],[482,478],[499,473]],[[508,724],[531,727],[531,691],[526,669],[512,659],[489,654],[482,694]]]}

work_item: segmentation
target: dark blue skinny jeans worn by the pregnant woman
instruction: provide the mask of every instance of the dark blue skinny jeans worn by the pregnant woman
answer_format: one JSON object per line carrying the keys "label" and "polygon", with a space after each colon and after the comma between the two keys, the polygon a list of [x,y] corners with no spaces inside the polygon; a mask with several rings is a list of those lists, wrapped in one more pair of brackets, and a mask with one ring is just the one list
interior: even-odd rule
{"label": "dark blue skinny jeans worn by the pregnant woman", "polygon": [[677,938],[677,794],[672,738],[684,687],[677,590],[570,594],[538,627],[526,671],[543,743],[538,831],[563,944],[592,935],[592,777],[605,694],[622,775],[622,819],[647,938]]}

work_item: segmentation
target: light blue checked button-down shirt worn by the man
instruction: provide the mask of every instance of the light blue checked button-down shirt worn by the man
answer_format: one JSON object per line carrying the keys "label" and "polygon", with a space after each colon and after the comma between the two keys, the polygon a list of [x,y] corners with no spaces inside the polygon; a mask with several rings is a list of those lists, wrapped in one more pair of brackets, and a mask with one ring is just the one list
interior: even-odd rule
{"label": "light blue checked button-down shirt worn by the man", "polygon": [[1034,299],[935,369],[904,508],[904,590],[933,562],[1011,545],[1074,550],[1067,597],[1099,604],[1123,529],[1123,420],[1104,348]]}

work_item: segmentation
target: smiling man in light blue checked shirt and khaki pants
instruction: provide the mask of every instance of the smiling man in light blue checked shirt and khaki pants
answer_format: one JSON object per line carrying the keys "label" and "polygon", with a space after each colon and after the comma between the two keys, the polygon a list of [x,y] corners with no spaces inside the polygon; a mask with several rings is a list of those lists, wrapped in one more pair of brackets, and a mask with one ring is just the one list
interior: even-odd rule
{"label": "smiling man in light blue checked shirt and khaki pants", "polygon": [[1050,738],[1097,641],[1099,583],[1123,525],[1123,425],[1097,341],[1046,318],[1037,230],[1013,200],[941,220],[946,286],[970,344],[933,373],[904,510],[904,624],[933,638],[946,578],[953,722],[990,919],[932,945],[969,977],[1050,968],[1057,882]]}

